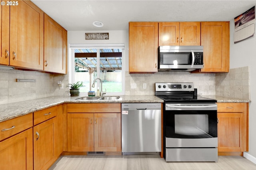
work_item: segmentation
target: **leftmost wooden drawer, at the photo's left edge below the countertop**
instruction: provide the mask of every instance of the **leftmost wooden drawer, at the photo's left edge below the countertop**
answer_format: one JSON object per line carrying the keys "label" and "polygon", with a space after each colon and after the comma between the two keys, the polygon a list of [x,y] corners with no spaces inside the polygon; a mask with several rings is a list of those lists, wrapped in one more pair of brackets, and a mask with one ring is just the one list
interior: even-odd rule
{"label": "leftmost wooden drawer, at the photo's left edge below the countertop", "polygon": [[16,117],[0,123],[0,140],[8,138],[33,126],[33,114]]}

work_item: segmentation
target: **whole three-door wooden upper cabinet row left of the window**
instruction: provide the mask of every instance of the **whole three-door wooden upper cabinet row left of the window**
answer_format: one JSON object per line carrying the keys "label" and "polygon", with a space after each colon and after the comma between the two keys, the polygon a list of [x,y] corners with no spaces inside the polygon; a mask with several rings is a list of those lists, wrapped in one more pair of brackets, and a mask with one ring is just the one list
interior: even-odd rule
{"label": "whole three-door wooden upper cabinet row left of the window", "polygon": [[[7,2],[7,1],[5,1]],[[67,73],[67,31],[31,1],[0,6],[0,64]]]}

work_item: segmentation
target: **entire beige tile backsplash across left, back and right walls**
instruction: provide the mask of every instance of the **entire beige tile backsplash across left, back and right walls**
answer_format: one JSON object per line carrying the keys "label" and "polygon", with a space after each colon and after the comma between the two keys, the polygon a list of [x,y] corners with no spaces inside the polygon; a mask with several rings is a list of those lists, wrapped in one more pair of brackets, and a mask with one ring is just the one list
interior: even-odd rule
{"label": "entire beige tile backsplash across left, back and right walls", "polygon": [[[229,73],[158,72],[152,74],[125,73],[125,95],[154,95],[155,83],[192,82],[198,94],[219,95],[250,99],[249,67],[230,69]],[[32,82],[16,82],[16,79],[36,79]],[[57,82],[62,81],[64,89]],[[136,83],[137,88],[131,89]],[[143,84],[146,83],[146,89]],[[50,96],[67,96],[68,74],[50,74],[38,71],[0,69],[0,104],[38,99]]]}

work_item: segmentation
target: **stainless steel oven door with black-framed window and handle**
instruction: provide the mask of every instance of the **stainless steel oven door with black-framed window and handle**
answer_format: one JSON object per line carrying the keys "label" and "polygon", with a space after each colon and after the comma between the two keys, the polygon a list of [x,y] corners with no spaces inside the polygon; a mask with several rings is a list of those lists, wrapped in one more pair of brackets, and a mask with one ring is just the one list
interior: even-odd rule
{"label": "stainless steel oven door with black-framed window and handle", "polygon": [[217,123],[216,103],[166,103],[166,148],[217,147]]}

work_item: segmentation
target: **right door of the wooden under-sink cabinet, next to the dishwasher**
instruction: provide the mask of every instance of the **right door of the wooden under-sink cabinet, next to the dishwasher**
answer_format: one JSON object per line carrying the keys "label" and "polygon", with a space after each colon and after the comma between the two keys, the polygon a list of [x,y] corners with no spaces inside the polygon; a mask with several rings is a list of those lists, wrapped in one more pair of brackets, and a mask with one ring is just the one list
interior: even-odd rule
{"label": "right door of the wooden under-sink cabinet, next to the dishwasher", "polygon": [[121,151],[121,113],[94,113],[94,151]]}

